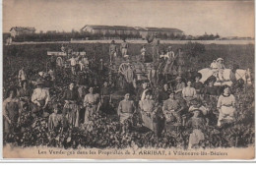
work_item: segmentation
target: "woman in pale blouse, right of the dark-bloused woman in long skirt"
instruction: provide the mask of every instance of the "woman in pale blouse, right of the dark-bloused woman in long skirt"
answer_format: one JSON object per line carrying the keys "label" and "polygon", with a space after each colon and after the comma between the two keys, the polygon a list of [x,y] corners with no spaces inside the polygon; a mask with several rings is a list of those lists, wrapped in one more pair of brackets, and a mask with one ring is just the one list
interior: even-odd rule
{"label": "woman in pale blouse, right of the dark-bloused woman in long skirt", "polygon": [[84,106],[86,107],[85,124],[89,124],[92,118],[96,114],[97,104],[99,100],[99,94],[94,94],[94,87],[89,88],[89,92],[84,98]]}

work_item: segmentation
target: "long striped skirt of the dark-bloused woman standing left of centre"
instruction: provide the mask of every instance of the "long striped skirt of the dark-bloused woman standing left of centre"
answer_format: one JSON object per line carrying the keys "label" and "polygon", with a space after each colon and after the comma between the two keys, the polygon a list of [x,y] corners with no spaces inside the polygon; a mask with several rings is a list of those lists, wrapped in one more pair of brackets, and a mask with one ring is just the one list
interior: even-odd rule
{"label": "long striped skirt of the dark-bloused woman standing left of centre", "polygon": [[70,127],[79,127],[79,108],[77,104],[65,104],[63,113],[66,115]]}

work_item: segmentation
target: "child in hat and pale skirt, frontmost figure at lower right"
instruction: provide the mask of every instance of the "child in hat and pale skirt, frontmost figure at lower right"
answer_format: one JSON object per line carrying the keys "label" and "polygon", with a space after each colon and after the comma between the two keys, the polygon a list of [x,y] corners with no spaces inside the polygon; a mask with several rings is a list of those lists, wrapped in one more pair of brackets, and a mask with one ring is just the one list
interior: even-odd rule
{"label": "child in hat and pale skirt, frontmost figure at lower right", "polygon": [[201,117],[202,110],[194,108],[192,111],[193,117],[188,121],[188,127],[192,129],[192,133],[189,136],[188,148],[198,147],[198,144],[205,140],[205,135],[202,133],[204,129],[205,121]]}

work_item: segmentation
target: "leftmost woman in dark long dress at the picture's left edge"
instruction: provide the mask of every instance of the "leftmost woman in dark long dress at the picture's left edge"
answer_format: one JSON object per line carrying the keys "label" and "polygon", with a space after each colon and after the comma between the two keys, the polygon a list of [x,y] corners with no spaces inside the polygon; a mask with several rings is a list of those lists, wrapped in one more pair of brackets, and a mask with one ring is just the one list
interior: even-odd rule
{"label": "leftmost woman in dark long dress at the picture's left edge", "polygon": [[3,130],[4,137],[15,132],[19,119],[19,99],[16,98],[17,91],[11,88],[8,91],[8,98],[3,101]]}

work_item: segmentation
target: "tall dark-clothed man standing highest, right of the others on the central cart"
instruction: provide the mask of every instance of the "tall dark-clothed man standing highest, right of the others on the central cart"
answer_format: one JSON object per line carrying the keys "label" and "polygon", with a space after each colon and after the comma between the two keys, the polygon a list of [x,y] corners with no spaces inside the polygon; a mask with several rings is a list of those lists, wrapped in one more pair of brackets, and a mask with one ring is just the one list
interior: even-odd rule
{"label": "tall dark-clothed man standing highest, right of the others on the central cart", "polygon": [[160,58],[160,39],[156,32],[152,37],[148,39],[148,42],[152,44],[153,62],[156,63]]}

